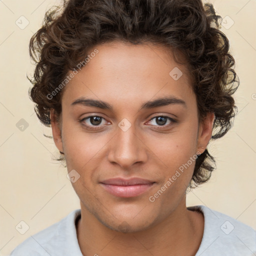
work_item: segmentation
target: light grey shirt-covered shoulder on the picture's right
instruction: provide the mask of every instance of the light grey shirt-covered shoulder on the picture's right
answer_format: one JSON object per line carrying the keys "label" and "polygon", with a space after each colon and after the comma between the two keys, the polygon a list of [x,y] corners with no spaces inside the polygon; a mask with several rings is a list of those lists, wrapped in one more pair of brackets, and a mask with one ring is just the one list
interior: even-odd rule
{"label": "light grey shirt-covered shoulder on the picture's right", "polygon": [[197,255],[251,256],[256,254],[256,230],[204,205],[187,207],[204,215],[204,230]]}

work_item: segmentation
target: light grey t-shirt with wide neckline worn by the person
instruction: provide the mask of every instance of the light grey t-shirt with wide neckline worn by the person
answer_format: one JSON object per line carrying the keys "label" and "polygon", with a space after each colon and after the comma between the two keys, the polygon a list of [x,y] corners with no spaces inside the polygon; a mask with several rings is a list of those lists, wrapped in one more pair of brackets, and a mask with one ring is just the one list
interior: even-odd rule
{"label": "light grey t-shirt with wide neckline worn by the person", "polygon": [[[195,256],[256,255],[256,230],[204,205],[187,208],[204,215],[203,237]],[[82,256],[75,228],[80,214],[80,209],[71,211],[60,221],[28,237],[10,256]]]}

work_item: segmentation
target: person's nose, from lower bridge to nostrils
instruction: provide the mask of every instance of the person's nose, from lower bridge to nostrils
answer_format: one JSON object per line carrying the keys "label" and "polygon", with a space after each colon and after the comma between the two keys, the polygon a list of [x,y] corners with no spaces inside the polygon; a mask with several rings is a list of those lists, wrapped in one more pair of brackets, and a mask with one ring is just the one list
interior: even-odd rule
{"label": "person's nose, from lower bridge to nostrils", "polygon": [[[143,163],[147,159],[147,147],[141,135],[135,133],[132,124],[127,130],[116,128],[116,135],[111,139],[108,160],[119,164],[123,169],[132,167],[134,163]],[[140,133],[141,134],[141,133]]]}

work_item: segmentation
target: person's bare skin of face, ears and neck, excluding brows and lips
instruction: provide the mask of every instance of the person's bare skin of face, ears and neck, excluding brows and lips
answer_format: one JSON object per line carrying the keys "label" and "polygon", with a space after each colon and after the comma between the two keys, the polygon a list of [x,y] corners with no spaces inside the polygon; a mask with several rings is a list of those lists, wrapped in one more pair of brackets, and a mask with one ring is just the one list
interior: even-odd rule
{"label": "person's bare skin of face, ears and neck, excluding brows and lips", "polygon": [[[99,52],[64,88],[60,123],[53,111],[50,114],[54,142],[64,152],[67,170],[80,175],[72,186],[81,205],[76,226],[81,252],[86,256],[194,255],[204,228],[203,214],[187,210],[185,203],[195,161],[155,201],[149,196],[189,157],[204,151],[214,114],[198,121],[188,72],[163,46],[115,41],[95,48]],[[169,75],[174,67],[183,72],[178,80]],[[184,100],[185,106],[140,110],[145,101],[170,95]],[[81,96],[106,101],[113,109],[71,105]],[[90,115],[103,117],[96,130],[79,122]],[[161,125],[152,119],[159,115],[177,122],[167,118]],[[131,125],[126,131],[118,126],[123,118]],[[83,123],[93,127],[90,120]],[[155,183],[141,195],[123,198],[99,184],[112,177],[140,177]]]}

